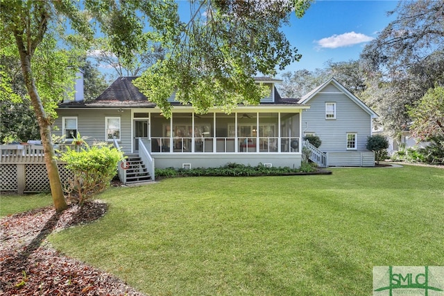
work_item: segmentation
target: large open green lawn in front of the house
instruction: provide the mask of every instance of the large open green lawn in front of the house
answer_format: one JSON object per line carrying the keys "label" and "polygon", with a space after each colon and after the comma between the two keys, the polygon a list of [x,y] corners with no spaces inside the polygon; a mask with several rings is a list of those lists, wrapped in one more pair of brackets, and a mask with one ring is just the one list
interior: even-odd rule
{"label": "large open green lawn in front of the house", "polygon": [[377,265],[444,265],[444,170],[167,179],[113,188],[50,237],[147,295],[371,295]]}

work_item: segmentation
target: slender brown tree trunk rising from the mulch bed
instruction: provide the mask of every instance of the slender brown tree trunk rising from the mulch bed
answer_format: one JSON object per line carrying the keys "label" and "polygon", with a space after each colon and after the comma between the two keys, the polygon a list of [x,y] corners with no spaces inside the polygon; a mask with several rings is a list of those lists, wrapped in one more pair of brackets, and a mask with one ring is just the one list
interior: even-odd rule
{"label": "slender brown tree trunk rising from the mulch bed", "polygon": [[42,137],[42,145],[44,149],[44,161],[46,163],[46,170],[48,172],[49,186],[51,188],[51,195],[53,197],[54,207],[56,211],[61,212],[68,208],[65,196],[63,195],[62,182],[58,173],[56,152],[54,151],[53,141],[51,138],[51,118],[46,116],[42,101],[35,87],[35,82],[31,70],[31,56],[20,51],[20,60],[22,62],[22,71],[26,88],[31,103],[33,104],[35,115],[37,115],[37,122],[40,128],[40,136]]}

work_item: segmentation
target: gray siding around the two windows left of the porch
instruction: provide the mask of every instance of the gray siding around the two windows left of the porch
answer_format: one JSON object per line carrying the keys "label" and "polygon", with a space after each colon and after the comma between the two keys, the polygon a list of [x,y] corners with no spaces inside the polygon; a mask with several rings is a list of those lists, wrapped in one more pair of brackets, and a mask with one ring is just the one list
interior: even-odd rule
{"label": "gray siding around the two windows left of the porch", "polygon": [[58,109],[58,118],[53,126],[57,126],[58,130],[53,129],[55,135],[62,135],[62,117],[76,116],[77,129],[80,135],[87,136],[87,142],[91,145],[93,142],[105,141],[105,117],[120,117],[121,124],[121,140],[119,145],[125,152],[131,152],[131,112],[124,110],[118,112],[112,109]]}

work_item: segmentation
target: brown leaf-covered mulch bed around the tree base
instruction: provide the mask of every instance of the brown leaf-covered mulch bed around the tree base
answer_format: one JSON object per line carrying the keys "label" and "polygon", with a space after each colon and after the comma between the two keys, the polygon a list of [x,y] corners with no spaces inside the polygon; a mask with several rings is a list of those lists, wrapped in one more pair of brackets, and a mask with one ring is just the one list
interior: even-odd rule
{"label": "brown leaf-covered mulch bed around the tree base", "polygon": [[63,256],[46,242],[54,231],[102,217],[108,206],[87,202],[62,213],[53,206],[0,220],[0,295],[142,296],[111,274]]}

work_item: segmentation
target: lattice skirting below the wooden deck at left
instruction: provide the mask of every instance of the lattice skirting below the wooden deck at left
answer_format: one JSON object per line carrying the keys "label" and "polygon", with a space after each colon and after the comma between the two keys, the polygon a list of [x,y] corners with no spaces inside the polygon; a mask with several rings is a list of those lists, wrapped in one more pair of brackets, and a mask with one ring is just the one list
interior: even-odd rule
{"label": "lattice skirting below the wooden deck at left", "polygon": [[[44,164],[0,165],[2,191],[47,192],[49,179]],[[62,183],[67,183],[72,173],[65,165],[58,164],[58,171]]]}

